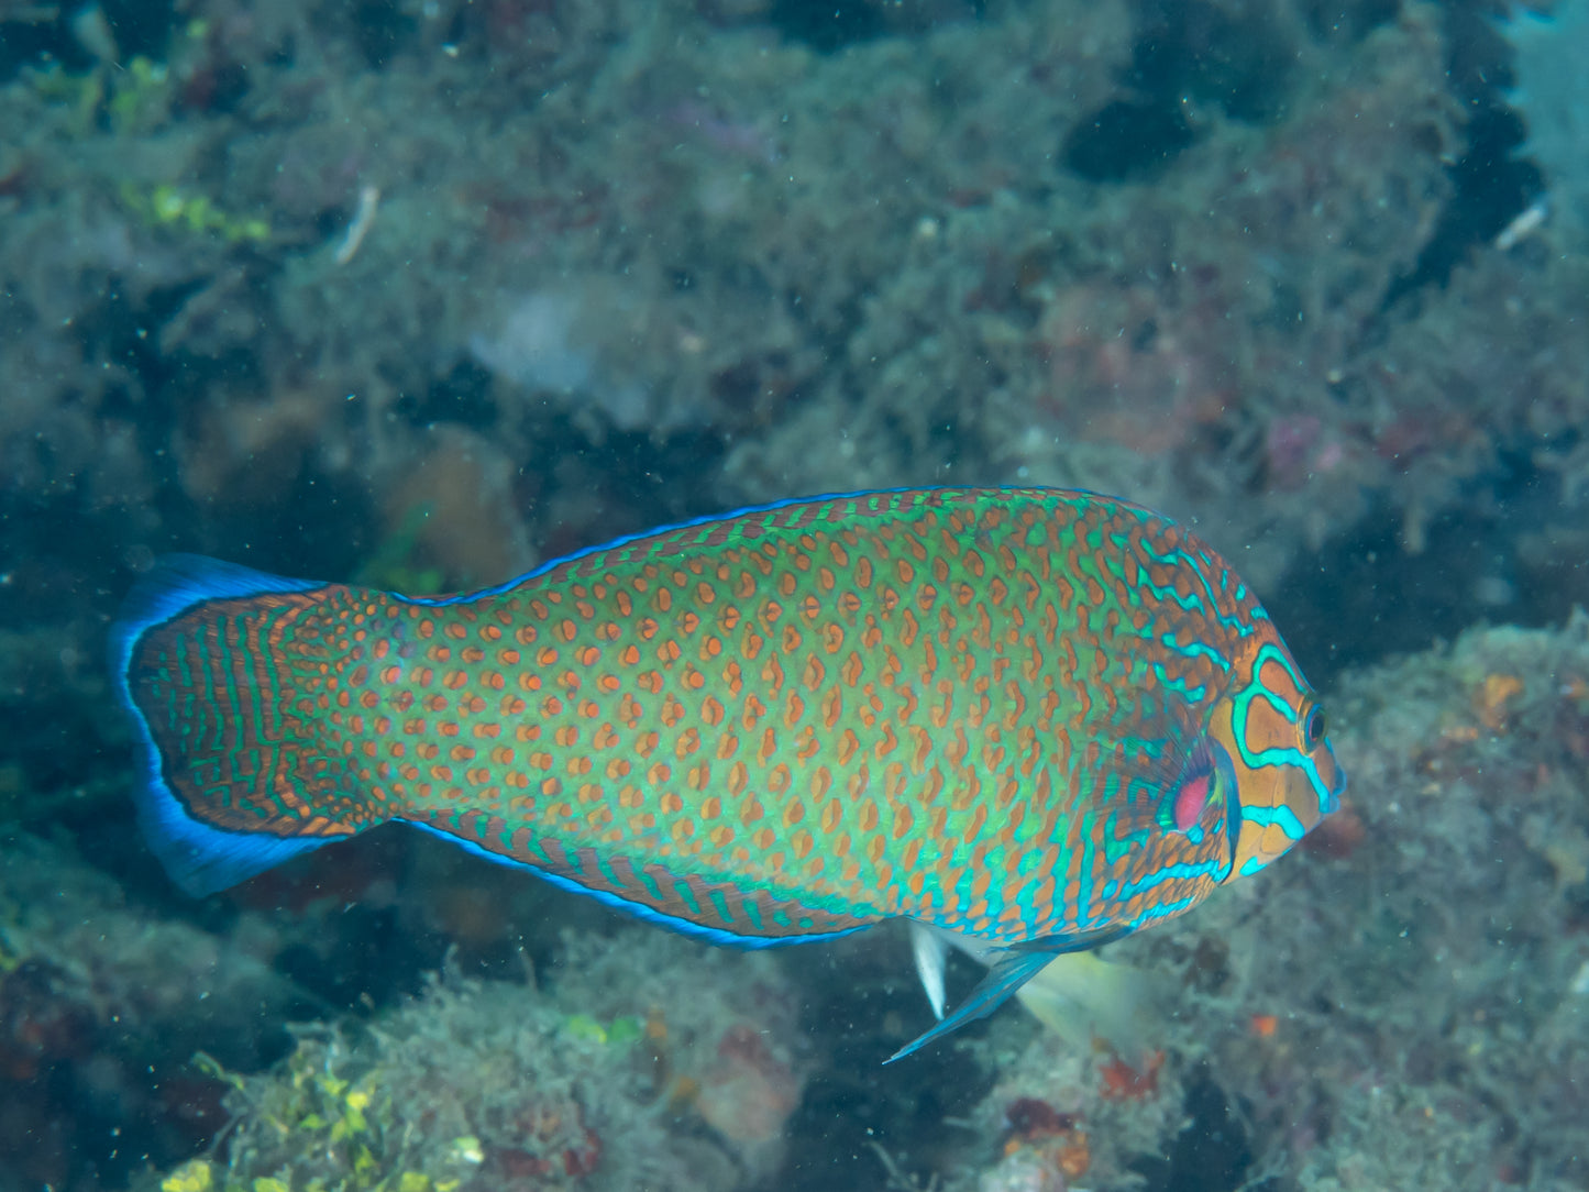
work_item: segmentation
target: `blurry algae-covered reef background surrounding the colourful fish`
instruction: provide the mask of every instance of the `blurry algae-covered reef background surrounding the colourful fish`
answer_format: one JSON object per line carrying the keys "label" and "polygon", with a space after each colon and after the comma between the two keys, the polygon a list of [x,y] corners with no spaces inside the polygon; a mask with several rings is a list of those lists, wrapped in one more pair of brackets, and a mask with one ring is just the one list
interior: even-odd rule
{"label": "blurry algae-covered reef background surrounding the colourful fish", "polygon": [[[0,0],[0,1192],[1583,1187],[1586,27]],[[1009,482],[1193,521],[1335,695],[1352,807],[1111,949],[1146,1057],[1011,1008],[880,1070],[890,933],[713,952],[400,833],[191,903],[137,839],[157,553],[440,591]]]}

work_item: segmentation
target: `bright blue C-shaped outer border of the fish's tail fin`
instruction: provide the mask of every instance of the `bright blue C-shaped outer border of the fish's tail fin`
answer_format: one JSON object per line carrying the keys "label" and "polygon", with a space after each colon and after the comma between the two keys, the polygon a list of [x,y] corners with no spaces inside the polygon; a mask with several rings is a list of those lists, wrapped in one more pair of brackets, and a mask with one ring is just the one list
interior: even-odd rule
{"label": "bright blue C-shaped outer border of the fish's tail fin", "polygon": [[197,604],[213,599],[259,596],[269,591],[310,591],[324,586],[310,580],[269,575],[235,563],[202,555],[167,555],[127,594],[110,631],[110,672],[116,696],[132,720],[141,769],[133,799],[149,850],[183,890],[202,898],[264,873],[299,853],[337,838],[281,839],[213,828],[194,819],[165,782],[160,750],[143,712],[132,699],[129,668],[138,639]]}

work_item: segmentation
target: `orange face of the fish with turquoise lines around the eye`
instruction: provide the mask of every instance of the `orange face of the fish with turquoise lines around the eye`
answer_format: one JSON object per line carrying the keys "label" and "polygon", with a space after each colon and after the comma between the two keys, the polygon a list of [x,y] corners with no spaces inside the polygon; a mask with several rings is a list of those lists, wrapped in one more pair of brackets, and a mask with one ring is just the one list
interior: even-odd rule
{"label": "orange face of the fish with turquoise lines around the eye", "polygon": [[1212,784],[1227,795],[1225,880],[1258,873],[1341,806],[1346,772],[1324,709],[1268,620],[1254,626],[1206,741]]}

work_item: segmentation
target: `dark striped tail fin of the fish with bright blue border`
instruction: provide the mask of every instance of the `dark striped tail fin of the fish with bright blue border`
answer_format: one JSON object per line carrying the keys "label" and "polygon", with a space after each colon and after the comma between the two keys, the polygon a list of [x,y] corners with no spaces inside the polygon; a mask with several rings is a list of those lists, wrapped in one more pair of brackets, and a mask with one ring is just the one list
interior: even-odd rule
{"label": "dark striped tail fin of the fish with bright blue border", "polygon": [[141,750],[138,819],[192,895],[242,882],[364,823],[316,811],[338,784],[294,701],[294,633],[329,591],[172,555],[127,596],[110,669]]}

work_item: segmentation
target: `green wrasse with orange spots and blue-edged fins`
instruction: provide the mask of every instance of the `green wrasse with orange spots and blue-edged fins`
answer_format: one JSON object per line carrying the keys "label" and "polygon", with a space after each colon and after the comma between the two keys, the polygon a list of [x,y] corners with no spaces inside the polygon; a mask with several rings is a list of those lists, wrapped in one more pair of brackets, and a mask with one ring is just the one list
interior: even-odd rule
{"label": "green wrasse with orange spots and blue-edged fins", "polygon": [[186,890],[399,820],[721,944],[914,920],[930,995],[971,938],[987,977],[895,1058],[1346,787],[1225,561],[1066,490],[788,501],[462,596],[172,556],[111,653]]}

